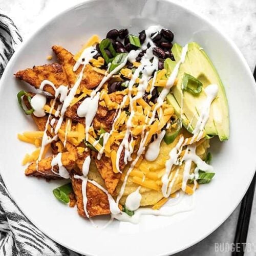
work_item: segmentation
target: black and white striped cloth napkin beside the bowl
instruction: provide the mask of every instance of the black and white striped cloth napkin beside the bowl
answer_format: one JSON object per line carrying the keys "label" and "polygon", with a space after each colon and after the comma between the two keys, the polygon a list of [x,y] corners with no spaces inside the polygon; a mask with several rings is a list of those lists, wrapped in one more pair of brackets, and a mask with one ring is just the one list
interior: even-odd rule
{"label": "black and white striped cloth napkin beside the bowl", "polygon": [[[0,78],[15,48],[22,42],[13,21],[0,13]],[[73,251],[55,243],[38,230],[10,197],[0,175],[0,255],[72,255]]]}

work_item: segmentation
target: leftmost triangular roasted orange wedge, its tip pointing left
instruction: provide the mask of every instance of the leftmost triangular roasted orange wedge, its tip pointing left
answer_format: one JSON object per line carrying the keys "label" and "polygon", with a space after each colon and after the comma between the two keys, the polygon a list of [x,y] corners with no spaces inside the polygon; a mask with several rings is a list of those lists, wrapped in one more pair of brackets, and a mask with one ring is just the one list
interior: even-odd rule
{"label": "leftmost triangular roasted orange wedge, its tip pointing left", "polygon": [[[36,66],[32,69],[20,70],[15,74],[16,78],[29,83],[34,88],[39,88],[44,80],[51,81],[56,88],[60,85],[68,86],[66,73],[63,72],[62,66],[58,63]],[[54,89],[47,84],[44,90],[52,95],[55,94]]]}

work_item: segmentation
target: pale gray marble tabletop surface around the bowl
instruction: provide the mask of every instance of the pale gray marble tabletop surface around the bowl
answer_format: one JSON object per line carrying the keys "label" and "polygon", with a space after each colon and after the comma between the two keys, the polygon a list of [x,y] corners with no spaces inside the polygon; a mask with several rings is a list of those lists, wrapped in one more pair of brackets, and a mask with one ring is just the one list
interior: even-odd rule
{"label": "pale gray marble tabletop surface around the bowl", "polygon": [[[83,0],[0,0],[0,12],[9,15],[14,20],[23,38],[26,39],[38,26],[57,13],[82,2]],[[215,23],[237,44],[250,69],[254,69],[256,63],[255,0],[174,0],[174,2],[203,14]],[[210,236],[176,256],[231,255],[231,251],[228,250],[216,251],[216,243],[231,244],[233,242],[239,208],[240,206]],[[253,206],[247,242],[250,243],[252,249],[256,247],[256,203]],[[246,255],[256,255],[256,251],[248,251]]]}

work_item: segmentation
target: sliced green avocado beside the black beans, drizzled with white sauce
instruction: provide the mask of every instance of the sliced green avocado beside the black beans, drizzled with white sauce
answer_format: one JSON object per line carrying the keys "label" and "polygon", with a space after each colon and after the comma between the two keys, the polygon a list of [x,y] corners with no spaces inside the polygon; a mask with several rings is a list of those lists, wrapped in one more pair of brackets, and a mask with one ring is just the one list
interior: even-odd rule
{"label": "sliced green avocado beside the black beans, drizzled with white sauce", "polygon": [[[174,44],[172,53],[176,62],[180,60],[181,52],[182,47],[178,44]],[[172,62],[171,65],[168,65],[168,68],[173,69],[173,64]],[[202,82],[203,89],[199,95],[182,91],[181,84],[184,73],[188,73]],[[204,89],[209,84],[218,85],[218,95],[211,103],[210,116],[205,126],[205,132],[208,138],[218,135],[221,141],[227,140],[229,138],[229,114],[225,89],[211,60],[206,55],[203,48],[196,42],[189,42],[185,61],[180,65],[177,78],[178,83],[167,95],[167,101],[173,105],[176,115],[182,119],[184,127],[189,132],[193,132],[200,115],[202,103],[206,99]],[[180,117],[182,97],[183,114],[182,117]]]}

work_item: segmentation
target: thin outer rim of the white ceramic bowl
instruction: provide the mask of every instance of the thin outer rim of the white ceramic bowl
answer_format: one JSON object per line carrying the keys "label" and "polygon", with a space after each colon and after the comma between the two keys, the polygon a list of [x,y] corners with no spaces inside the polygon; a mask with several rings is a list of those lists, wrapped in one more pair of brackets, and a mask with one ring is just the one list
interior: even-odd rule
{"label": "thin outer rim of the white ceramic bowl", "polygon": [[[54,22],[55,19],[59,18],[60,16],[72,11],[73,9],[76,9],[76,8],[79,8],[80,6],[83,6],[87,3],[92,3],[92,2],[97,2],[98,0],[84,0],[82,3],[79,3],[79,4],[75,4],[75,5],[72,5],[71,7],[68,7],[64,10],[62,10],[61,12],[59,12],[58,14],[52,16],[51,18],[49,18],[44,24],[42,24],[41,26],[39,26],[38,28],[32,30],[31,34],[27,36],[27,38],[25,38],[25,40],[23,40],[23,42],[21,42],[17,47],[16,47],[16,50],[14,52],[14,54],[12,55],[11,59],[9,60],[9,62],[7,63],[7,66],[3,72],[3,75],[0,79],[0,93],[2,92],[3,88],[4,88],[4,80],[5,80],[5,77],[7,76],[8,72],[9,72],[9,69],[11,69],[12,67],[12,64],[16,61],[16,56],[20,54],[20,52],[23,51],[23,49],[26,47],[26,45],[28,44],[29,41],[33,40],[33,38],[38,34],[40,33],[42,30],[44,30],[44,28],[48,27],[49,24],[51,24],[52,22]],[[117,0],[115,0],[117,1]],[[133,0],[133,1],[136,1],[136,0]],[[188,7],[185,7],[184,4],[181,4],[181,3],[177,3],[175,0],[154,0],[156,2],[166,2],[166,3],[170,3],[174,6],[177,6],[178,8],[181,8],[183,9],[184,11],[196,16],[198,19],[202,20],[203,23],[206,23],[209,27],[211,27],[213,30],[217,31],[227,42],[228,46],[232,48],[233,51],[235,51],[244,68],[245,68],[245,71],[246,71],[246,75],[250,78],[251,80],[251,83],[254,83],[254,87],[253,87],[253,90],[254,90],[254,93],[256,95],[256,82],[254,80],[254,77],[252,75],[252,72],[249,68],[249,65],[245,59],[245,57],[243,56],[243,54],[241,53],[240,49],[238,48],[238,46],[236,44],[234,44],[233,40],[230,39],[230,37],[228,35],[225,35],[225,33],[222,31],[221,28],[219,28],[219,26],[216,24],[216,22],[214,21],[211,21],[208,19],[208,17],[204,14],[201,14],[195,10],[190,10]],[[254,170],[256,170],[256,163],[254,164]],[[2,174],[2,170],[0,168],[0,174]],[[253,173],[254,174],[254,173]],[[2,176],[2,179],[5,183],[5,179],[4,177]],[[239,199],[238,203],[231,209],[230,208],[230,211],[228,212],[228,214],[223,218],[223,220],[217,225],[215,226],[214,228],[210,229],[208,232],[204,233],[201,235],[200,238],[197,238],[197,239],[192,239],[191,242],[187,245],[185,245],[182,249],[177,249],[175,251],[173,251],[172,253],[175,254],[175,253],[178,253],[180,251],[183,251],[199,242],[201,242],[203,239],[205,239],[206,237],[208,237],[212,232],[214,232],[215,230],[217,230],[227,219],[228,217],[232,214],[232,212],[238,207],[238,205],[240,204],[241,200],[243,199],[244,195],[246,194],[246,191],[248,190],[248,187],[251,183],[253,179],[253,175],[251,176],[251,178],[249,179],[249,183],[247,184],[247,186],[244,186],[245,189],[244,189],[244,192],[242,193],[242,197]],[[7,188],[7,186],[6,186]],[[9,189],[7,188],[10,196],[12,197],[12,189]],[[20,209],[20,211],[23,212],[23,214],[26,216],[26,218],[36,227],[38,228],[32,220],[30,220],[30,218],[27,217],[27,215],[24,213],[26,212],[26,210],[24,209],[21,209],[19,206],[18,206],[18,203],[15,201],[15,199],[13,199],[15,204],[17,205],[17,207]],[[78,252],[78,253],[84,253],[82,251],[79,251],[77,250],[76,248],[72,248],[72,246],[67,246],[66,244],[63,244],[61,241],[59,241],[58,239],[55,239],[55,238],[52,238],[51,235],[47,234],[45,231],[44,231],[44,228],[38,228],[42,233],[44,233],[48,238],[52,239],[53,241],[55,241],[56,243],[60,244],[61,246],[63,247],[66,247],[70,250],[73,250],[75,252]],[[93,254],[90,254],[90,253],[87,253],[88,256],[93,256]],[[160,254],[160,255],[170,255],[168,251],[164,252],[164,254]]]}

